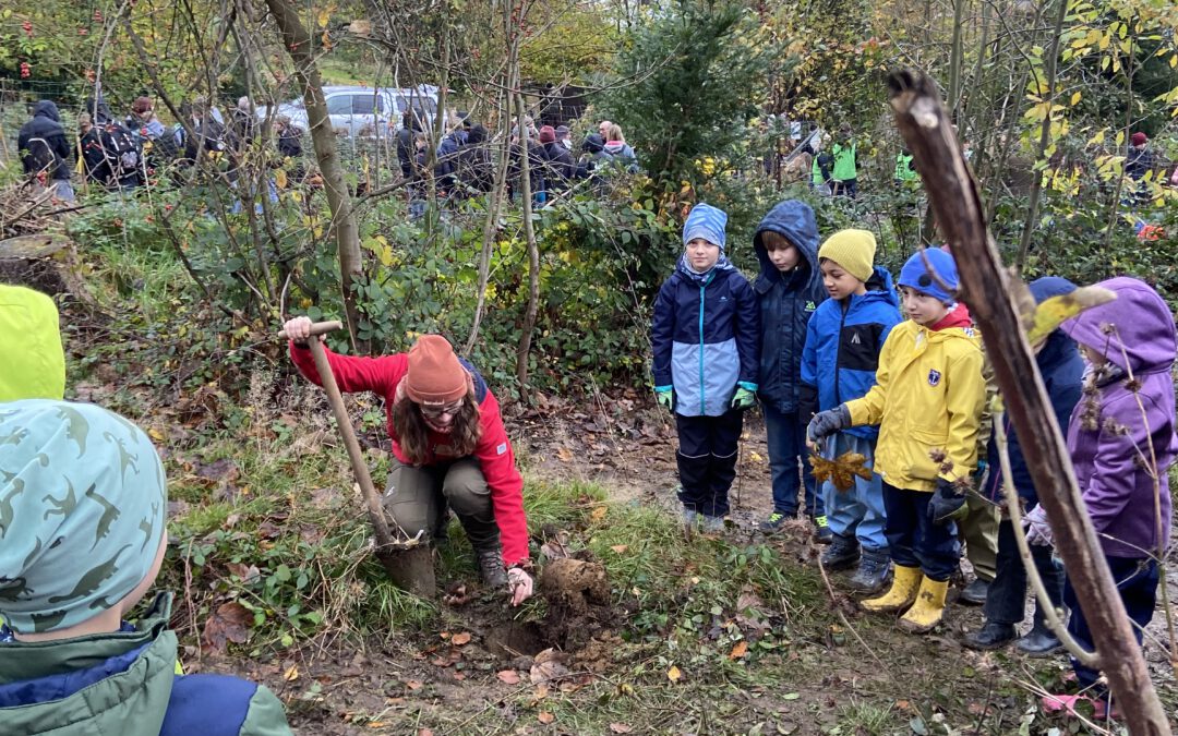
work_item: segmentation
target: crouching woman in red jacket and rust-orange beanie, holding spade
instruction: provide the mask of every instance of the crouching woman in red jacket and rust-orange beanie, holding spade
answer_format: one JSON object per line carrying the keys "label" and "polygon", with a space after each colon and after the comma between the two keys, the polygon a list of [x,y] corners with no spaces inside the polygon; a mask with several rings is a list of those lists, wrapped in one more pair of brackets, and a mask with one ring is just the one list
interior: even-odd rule
{"label": "crouching woman in red jacket and rust-orange beanie, holding spade", "polygon": [[[294,365],[319,384],[306,346],[311,320],[296,317],[284,329]],[[529,598],[523,478],[499,404],[478,371],[438,334],[423,334],[408,353],[378,358],[324,352],[340,391],[384,397],[396,456],[384,495],[391,520],[409,537],[432,535],[449,504],[475,548],[483,582],[510,585],[512,605]]]}

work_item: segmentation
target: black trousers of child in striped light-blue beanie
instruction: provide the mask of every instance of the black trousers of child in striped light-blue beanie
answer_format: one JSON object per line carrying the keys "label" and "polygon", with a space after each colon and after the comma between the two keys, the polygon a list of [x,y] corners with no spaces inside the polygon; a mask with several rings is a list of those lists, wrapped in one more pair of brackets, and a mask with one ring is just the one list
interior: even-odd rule
{"label": "black trousers of child in striped light-blue beanie", "polygon": [[675,415],[679,429],[679,499],[704,516],[728,513],[728,489],[736,478],[736,453],[744,412],[719,417]]}

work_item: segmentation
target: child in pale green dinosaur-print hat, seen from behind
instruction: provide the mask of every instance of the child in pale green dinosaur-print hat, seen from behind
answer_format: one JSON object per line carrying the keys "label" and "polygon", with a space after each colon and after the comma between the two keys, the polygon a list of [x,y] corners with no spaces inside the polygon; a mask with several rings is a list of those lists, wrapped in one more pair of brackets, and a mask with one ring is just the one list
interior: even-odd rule
{"label": "child in pale green dinosaur-print hat, seen from behind", "polygon": [[0,404],[0,723],[24,734],[279,736],[283,705],[223,675],[176,675],[161,592],[164,468],[134,424],[92,404]]}

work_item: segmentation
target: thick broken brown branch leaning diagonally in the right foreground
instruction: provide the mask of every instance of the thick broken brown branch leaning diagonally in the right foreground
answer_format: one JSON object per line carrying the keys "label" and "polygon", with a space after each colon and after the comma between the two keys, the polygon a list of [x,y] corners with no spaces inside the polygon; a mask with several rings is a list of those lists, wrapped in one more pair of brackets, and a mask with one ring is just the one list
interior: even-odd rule
{"label": "thick broken brown branch leaning diagonally in the right foreground", "polygon": [[981,197],[940,91],[928,77],[907,69],[893,73],[888,86],[896,125],[913,153],[941,232],[953,247],[964,299],[985,336],[986,352],[1018,430],[1039,503],[1050,517],[1055,548],[1092,630],[1100,667],[1130,731],[1169,735],[1170,725],[1085,510],[1043,377],[1023,331],[1010,289],[1011,276],[1001,267],[986,230]]}

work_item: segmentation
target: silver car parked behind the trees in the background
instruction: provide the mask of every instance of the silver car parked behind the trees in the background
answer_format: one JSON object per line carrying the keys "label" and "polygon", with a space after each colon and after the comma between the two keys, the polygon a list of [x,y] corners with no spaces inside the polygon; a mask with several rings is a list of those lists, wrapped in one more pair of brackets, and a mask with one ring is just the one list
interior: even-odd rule
{"label": "silver car parked behind the trees in the background", "polygon": [[[376,87],[324,87],[327,115],[337,133],[349,137],[376,135],[378,130],[397,130],[402,115],[412,106],[418,114],[434,117],[437,113],[437,87],[422,85],[416,89]],[[258,117],[265,118],[267,107],[257,108]],[[307,130],[306,106],[303,99],[278,105],[274,115],[287,115],[291,122]]]}

